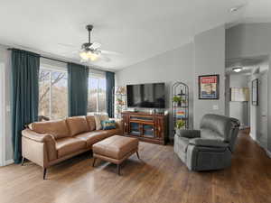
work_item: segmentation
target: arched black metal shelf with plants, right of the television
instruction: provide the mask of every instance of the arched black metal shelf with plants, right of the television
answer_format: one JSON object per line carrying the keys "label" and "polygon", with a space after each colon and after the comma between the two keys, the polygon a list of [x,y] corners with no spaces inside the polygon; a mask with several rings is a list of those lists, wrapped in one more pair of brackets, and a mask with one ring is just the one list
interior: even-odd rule
{"label": "arched black metal shelf with plants, right of the television", "polygon": [[174,133],[189,127],[189,88],[182,82],[172,87],[172,116]]}

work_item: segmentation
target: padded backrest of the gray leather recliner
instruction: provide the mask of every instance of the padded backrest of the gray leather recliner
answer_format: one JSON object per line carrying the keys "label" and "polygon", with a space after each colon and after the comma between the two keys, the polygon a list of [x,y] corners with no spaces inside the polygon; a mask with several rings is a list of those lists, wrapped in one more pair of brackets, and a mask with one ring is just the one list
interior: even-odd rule
{"label": "padded backrest of the gray leather recliner", "polygon": [[201,131],[202,129],[213,131],[214,134],[210,136],[220,136],[226,142],[230,140],[232,128],[231,118],[224,115],[204,115],[201,119]]}

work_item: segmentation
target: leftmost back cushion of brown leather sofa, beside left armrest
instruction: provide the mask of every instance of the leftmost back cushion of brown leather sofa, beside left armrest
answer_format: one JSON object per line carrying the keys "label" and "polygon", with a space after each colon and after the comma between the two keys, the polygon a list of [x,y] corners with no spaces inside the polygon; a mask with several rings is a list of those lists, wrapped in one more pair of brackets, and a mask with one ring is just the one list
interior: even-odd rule
{"label": "leftmost back cushion of brown leather sofa, beside left armrest", "polygon": [[38,134],[51,134],[55,139],[69,137],[70,131],[66,120],[34,122],[29,128]]}

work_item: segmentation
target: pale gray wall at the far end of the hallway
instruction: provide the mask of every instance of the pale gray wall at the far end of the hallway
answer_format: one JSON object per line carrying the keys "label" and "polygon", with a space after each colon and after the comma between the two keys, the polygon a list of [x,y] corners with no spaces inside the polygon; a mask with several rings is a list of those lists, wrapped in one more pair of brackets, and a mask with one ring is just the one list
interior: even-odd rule
{"label": "pale gray wall at the far end of the hallway", "polygon": [[[249,79],[248,75],[229,75],[229,88],[249,88]],[[229,101],[229,116],[237,118],[241,125],[249,126],[249,102]]]}

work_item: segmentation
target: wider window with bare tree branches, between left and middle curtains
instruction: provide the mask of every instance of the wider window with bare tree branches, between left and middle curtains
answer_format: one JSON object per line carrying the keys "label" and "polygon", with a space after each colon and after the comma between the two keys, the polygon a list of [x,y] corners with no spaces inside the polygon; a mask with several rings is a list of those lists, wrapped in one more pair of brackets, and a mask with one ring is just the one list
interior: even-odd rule
{"label": "wider window with bare tree branches, between left and middle curtains", "polygon": [[40,69],[39,115],[54,119],[68,116],[68,74],[66,71]]}

